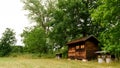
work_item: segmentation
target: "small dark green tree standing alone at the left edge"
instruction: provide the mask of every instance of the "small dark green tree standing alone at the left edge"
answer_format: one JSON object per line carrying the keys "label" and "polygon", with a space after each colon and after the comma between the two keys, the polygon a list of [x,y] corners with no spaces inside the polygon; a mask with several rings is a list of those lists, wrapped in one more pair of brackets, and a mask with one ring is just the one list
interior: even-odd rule
{"label": "small dark green tree standing alone at the left edge", "polygon": [[10,28],[6,28],[0,39],[0,56],[9,55],[11,52],[11,46],[15,45],[15,42],[15,32]]}

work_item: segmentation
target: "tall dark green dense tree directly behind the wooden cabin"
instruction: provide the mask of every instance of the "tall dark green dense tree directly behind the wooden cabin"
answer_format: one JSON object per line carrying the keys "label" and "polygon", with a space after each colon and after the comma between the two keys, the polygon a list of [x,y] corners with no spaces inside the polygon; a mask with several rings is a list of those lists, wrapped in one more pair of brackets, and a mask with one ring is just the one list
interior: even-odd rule
{"label": "tall dark green dense tree directly behind the wooden cabin", "polygon": [[[71,39],[90,34],[98,35],[97,27],[91,20],[91,10],[97,7],[97,0],[58,0],[53,11],[51,38],[63,46]],[[53,36],[54,35],[54,36]]]}

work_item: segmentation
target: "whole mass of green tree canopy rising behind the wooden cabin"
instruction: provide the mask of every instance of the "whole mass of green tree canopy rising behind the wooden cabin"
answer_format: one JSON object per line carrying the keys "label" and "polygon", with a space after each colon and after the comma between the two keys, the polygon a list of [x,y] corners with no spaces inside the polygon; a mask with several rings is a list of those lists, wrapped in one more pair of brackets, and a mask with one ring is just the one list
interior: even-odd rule
{"label": "whole mass of green tree canopy rising behind the wooden cabin", "polygon": [[[28,17],[37,24],[34,29],[24,31],[25,44],[33,40],[33,36],[36,35],[34,40],[44,37],[40,39],[43,43],[47,42],[62,48],[72,39],[95,35],[102,43],[103,47],[100,47],[103,50],[120,57],[119,0],[23,0],[22,2],[25,10],[29,11]],[[39,36],[41,34],[42,36]],[[50,41],[44,41],[45,38]],[[30,42],[29,45],[38,42]]]}

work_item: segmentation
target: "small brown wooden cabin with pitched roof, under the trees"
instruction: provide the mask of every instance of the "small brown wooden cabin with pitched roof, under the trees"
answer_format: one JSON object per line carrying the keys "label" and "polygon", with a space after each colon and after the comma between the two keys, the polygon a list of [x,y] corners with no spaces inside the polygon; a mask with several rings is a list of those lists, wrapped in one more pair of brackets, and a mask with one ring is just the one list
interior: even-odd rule
{"label": "small brown wooden cabin with pitched roof, under the trees", "polygon": [[73,40],[67,43],[69,59],[94,59],[97,58],[99,41],[92,35]]}

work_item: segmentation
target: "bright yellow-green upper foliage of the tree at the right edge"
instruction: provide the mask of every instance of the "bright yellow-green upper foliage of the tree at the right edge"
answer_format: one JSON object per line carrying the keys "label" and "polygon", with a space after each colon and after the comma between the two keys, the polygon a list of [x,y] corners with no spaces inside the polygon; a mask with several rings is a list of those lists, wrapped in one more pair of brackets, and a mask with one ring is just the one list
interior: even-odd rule
{"label": "bright yellow-green upper foliage of the tree at the right edge", "polygon": [[[101,5],[94,10],[92,19],[95,23],[109,29],[114,26],[119,20],[119,0],[101,0]],[[110,3],[109,3],[110,2]]]}

